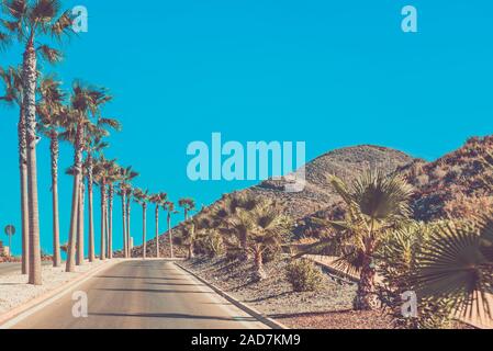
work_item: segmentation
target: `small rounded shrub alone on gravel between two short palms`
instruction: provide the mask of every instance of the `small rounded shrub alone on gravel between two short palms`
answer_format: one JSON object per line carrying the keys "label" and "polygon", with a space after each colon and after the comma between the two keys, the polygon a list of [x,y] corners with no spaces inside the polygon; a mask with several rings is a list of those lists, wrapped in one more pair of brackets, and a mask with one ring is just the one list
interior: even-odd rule
{"label": "small rounded shrub alone on gravel between two short palms", "polygon": [[313,292],[322,286],[321,269],[307,259],[300,259],[288,264],[285,276],[295,292]]}

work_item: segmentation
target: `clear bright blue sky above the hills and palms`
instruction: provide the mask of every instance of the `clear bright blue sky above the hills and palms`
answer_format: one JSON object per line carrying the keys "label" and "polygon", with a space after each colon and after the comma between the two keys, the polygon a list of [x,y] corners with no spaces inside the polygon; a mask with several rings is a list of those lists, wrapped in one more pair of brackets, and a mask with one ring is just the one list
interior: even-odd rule
{"label": "clear bright blue sky above the hills and palms", "polygon": [[[469,136],[493,132],[490,0],[83,4],[89,33],[66,45],[66,60],[55,70],[67,84],[81,78],[112,91],[115,99],[105,112],[119,117],[124,131],[111,138],[108,157],[134,166],[142,174],[137,185],[167,191],[175,200],[187,195],[210,203],[248,185],[188,180],[188,144],[209,140],[213,132],[239,141],[306,141],[309,159],[357,144],[434,159]],[[418,9],[418,34],[401,31],[406,4]],[[1,66],[21,58],[16,48],[0,55]],[[16,120],[16,111],[0,109],[2,228],[8,223],[20,227]],[[71,149],[65,146],[61,169],[70,161]],[[42,246],[51,251],[46,140],[38,146],[38,174]],[[68,233],[70,186],[70,179],[61,177],[61,241]],[[149,217],[152,234],[152,212]],[[134,205],[136,244],[139,218]],[[19,252],[19,234],[14,244]]]}

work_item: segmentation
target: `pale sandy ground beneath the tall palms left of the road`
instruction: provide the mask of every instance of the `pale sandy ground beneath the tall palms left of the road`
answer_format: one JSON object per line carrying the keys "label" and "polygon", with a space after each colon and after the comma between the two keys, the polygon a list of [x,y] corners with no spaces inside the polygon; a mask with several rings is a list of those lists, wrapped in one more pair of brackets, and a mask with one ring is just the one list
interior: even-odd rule
{"label": "pale sandy ground beneath the tall palms left of the road", "polygon": [[29,285],[27,276],[20,273],[10,273],[0,276],[0,314],[30,302],[58,286],[72,281],[81,274],[94,270],[109,261],[86,262],[77,267],[77,272],[66,273],[65,267],[43,267],[43,285]]}

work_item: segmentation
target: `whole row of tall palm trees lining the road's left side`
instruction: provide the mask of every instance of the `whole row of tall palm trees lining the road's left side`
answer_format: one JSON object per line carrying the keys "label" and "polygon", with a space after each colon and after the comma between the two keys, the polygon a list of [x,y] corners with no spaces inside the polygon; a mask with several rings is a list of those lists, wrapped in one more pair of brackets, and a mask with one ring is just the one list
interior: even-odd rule
{"label": "whole row of tall palm trees lining the road's left side", "polygon": [[[115,160],[107,159],[107,138],[113,131],[120,131],[115,118],[103,115],[103,107],[112,100],[104,88],[92,87],[80,81],[72,83],[70,92],[64,91],[56,76],[43,76],[38,59],[56,64],[61,52],[42,39],[55,38],[61,42],[72,34],[71,11],[61,11],[57,0],[1,0],[0,47],[16,42],[24,48],[20,67],[0,68],[4,92],[0,101],[19,109],[19,165],[22,214],[22,273],[29,274],[29,283],[42,284],[41,246],[38,224],[38,186],[36,149],[42,136],[49,139],[52,200],[53,200],[53,264],[60,267],[60,227],[58,203],[59,143],[72,146],[74,162],[66,171],[72,177],[70,227],[66,271],[74,272],[85,261],[85,206],[88,202],[88,259],[96,257],[94,230],[94,184],[100,189],[100,252],[99,259],[113,258],[113,207],[114,197],[122,202],[123,257],[131,257],[131,204],[138,202],[143,207],[143,256],[146,256],[146,210],[155,204],[156,257],[159,257],[158,216],[167,212],[168,231],[171,233],[171,216],[177,213],[175,204],[166,193],[150,195],[148,191],[132,185],[138,176],[132,167],[122,167]],[[194,208],[190,199],[180,201],[188,218]],[[172,237],[170,238],[171,256]]]}

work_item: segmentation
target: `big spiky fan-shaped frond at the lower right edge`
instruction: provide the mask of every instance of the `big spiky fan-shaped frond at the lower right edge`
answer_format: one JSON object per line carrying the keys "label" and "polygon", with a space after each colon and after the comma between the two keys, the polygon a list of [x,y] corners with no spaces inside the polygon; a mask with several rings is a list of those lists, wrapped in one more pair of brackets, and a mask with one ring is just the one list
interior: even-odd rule
{"label": "big spiky fan-shaped frond at the lower right edge", "polygon": [[450,299],[464,317],[482,309],[493,318],[489,303],[493,294],[493,262],[481,252],[484,230],[491,228],[464,224],[439,226],[418,259],[419,296]]}

